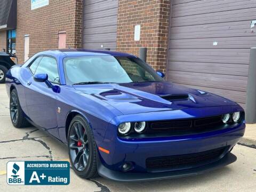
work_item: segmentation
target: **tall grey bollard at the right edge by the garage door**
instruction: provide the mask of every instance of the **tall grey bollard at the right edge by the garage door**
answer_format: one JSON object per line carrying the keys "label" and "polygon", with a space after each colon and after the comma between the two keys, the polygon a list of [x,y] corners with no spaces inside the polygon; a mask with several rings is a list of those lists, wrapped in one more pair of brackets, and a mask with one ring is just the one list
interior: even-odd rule
{"label": "tall grey bollard at the right edge by the garage door", "polygon": [[256,47],[252,47],[250,52],[246,95],[246,123],[256,123]]}

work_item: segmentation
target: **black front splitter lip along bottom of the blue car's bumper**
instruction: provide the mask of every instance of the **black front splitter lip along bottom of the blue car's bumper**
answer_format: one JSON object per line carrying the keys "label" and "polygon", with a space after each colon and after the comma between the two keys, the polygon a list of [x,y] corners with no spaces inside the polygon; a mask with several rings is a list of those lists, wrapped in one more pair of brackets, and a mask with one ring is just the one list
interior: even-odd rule
{"label": "black front splitter lip along bottom of the blue car's bumper", "polygon": [[236,156],[228,153],[224,157],[222,157],[219,161],[207,164],[201,167],[197,167],[189,170],[181,170],[181,171],[169,171],[169,172],[159,172],[159,173],[125,173],[119,171],[113,171],[107,169],[107,167],[103,166],[98,159],[98,173],[101,177],[114,180],[114,181],[122,181],[122,182],[135,182],[135,181],[151,181],[151,180],[162,180],[162,179],[173,179],[173,178],[181,178],[188,177],[192,175],[203,174],[219,167],[229,165],[236,161]]}

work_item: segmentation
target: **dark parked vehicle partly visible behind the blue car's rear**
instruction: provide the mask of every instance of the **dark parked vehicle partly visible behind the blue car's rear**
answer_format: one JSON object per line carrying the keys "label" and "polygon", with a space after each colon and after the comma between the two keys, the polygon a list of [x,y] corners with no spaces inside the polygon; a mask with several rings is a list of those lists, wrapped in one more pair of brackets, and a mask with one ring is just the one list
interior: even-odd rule
{"label": "dark parked vehicle partly visible behind the blue car's rear", "polygon": [[17,64],[17,57],[11,53],[0,51],[0,83],[5,82],[5,75],[7,70]]}

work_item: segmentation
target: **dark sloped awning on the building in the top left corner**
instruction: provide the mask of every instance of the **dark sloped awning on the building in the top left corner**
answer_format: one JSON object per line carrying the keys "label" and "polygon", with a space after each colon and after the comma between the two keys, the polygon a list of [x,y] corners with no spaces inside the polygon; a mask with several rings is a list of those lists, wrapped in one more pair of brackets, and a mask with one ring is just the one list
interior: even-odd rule
{"label": "dark sloped awning on the building in the top left corner", "polygon": [[0,0],[0,30],[15,29],[17,0]]}

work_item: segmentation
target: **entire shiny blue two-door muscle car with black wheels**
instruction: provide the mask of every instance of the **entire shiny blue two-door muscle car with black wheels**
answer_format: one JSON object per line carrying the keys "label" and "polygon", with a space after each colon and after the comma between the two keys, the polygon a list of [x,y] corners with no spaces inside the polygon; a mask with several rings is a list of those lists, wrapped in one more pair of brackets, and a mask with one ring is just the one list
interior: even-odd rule
{"label": "entire shiny blue two-door muscle car with black wheels", "polygon": [[7,73],[11,121],[66,143],[73,170],[86,179],[177,178],[235,162],[243,108],[162,77],[126,53],[41,52]]}

